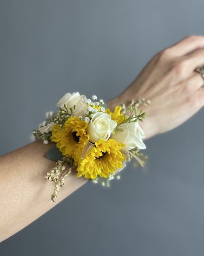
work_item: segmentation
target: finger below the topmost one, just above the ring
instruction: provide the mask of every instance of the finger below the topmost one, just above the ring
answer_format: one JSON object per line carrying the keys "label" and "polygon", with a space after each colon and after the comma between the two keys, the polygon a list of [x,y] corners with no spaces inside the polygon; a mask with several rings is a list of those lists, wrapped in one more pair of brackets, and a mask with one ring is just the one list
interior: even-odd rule
{"label": "finger below the topmost one, just above the ring", "polygon": [[198,67],[204,65],[204,48],[193,51],[191,54],[186,55],[182,58],[182,64],[189,71],[194,71]]}

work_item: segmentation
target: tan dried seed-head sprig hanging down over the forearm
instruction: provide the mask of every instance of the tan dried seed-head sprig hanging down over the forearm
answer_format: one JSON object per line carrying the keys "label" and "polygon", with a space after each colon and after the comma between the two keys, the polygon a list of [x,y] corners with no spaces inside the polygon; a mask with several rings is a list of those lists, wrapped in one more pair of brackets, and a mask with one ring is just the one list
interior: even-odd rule
{"label": "tan dried seed-head sprig hanging down over the forearm", "polygon": [[[67,165],[70,167],[66,172],[64,172]],[[65,179],[71,173],[73,167],[73,159],[63,157],[61,160],[58,160],[55,163],[55,167],[51,170],[51,172],[46,174],[45,179],[55,183],[53,194],[50,197],[53,202],[55,202],[56,197],[58,196],[59,188],[64,188]]]}

